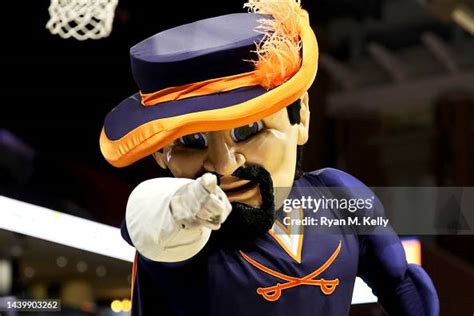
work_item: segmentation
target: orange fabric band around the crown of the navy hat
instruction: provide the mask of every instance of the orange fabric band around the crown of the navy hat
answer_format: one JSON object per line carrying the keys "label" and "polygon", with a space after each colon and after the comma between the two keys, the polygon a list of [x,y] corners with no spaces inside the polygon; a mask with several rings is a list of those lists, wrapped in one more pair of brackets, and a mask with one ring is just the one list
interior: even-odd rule
{"label": "orange fabric band around the crown of the navy hat", "polygon": [[260,79],[257,77],[256,72],[251,71],[228,77],[170,87],[151,93],[143,93],[140,91],[140,96],[142,105],[154,106],[163,102],[227,92],[243,87],[257,86],[259,84]]}

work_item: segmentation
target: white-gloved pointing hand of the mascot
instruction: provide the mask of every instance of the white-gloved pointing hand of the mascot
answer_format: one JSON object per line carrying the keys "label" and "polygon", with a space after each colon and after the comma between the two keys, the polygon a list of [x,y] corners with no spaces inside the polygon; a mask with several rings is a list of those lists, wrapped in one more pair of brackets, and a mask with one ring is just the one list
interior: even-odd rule
{"label": "white-gloved pointing hand of the mascot", "polygon": [[179,188],[170,206],[173,218],[184,229],[205,226],[218,230],[232,210],[227,196],[217,185],[216,176],[211,173]]}

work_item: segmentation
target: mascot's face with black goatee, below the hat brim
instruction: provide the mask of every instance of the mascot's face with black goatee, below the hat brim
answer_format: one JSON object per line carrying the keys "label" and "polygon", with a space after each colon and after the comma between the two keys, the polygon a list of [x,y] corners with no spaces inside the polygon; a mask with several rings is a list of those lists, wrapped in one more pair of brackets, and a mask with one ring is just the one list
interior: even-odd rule
{"label": "mascot's face with black goatee, below the hat brim", "polygon": [[234,222],[234,228],[240,226],[237,230],[241,234],[266,232],[273,224],[275,209],[281,207],[293,185],[297,146],[308,140],[308,127],[305,94],[299,123],[291,124],[283,108],[246,126],[187,135],[155,153],[154,158],[175,177],[216,174],[233,206],[227,222]]}

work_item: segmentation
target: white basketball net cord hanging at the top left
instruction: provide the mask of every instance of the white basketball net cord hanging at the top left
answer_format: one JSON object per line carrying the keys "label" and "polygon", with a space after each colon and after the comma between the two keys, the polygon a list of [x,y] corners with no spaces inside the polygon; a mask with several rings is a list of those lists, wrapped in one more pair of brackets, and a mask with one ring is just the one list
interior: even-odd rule
{"label": "white basketball net cord hanging at the top left", "polygon": [[118,0],[51,0],[46,28],[62,38],[100,39],[112,31]]}

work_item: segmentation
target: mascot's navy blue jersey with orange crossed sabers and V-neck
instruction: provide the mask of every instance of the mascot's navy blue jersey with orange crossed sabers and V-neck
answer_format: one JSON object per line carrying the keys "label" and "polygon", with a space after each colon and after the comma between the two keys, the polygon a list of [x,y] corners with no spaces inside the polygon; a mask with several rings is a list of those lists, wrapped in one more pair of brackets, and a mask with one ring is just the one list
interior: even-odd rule
{"label": "mascot's navy blue jersey with orange crossed sabers and V-neck", "polygon": [[[341,171],[323,169],[305,174],[294,186],[311,187],[321,196],[330,186],[363,185]],[[243,249],[206,246],[184,262],[154,262],[137,254],[132,315],[347,315],[356,276],[389,312],[424,314],[393,232],[359,235],[340,226],[324,234],[303,228],[290,251],[276,226],[282,225]],[[125,225],[122,230],[131,243]]]}

